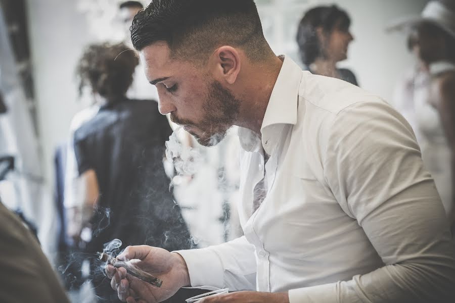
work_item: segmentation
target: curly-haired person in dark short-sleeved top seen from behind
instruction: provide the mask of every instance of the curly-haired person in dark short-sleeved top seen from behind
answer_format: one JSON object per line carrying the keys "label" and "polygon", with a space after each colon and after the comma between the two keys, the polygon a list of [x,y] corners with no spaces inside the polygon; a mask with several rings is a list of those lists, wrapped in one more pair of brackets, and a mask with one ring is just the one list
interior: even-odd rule
{"label": "curly-haired person in dark short-sleeved top seen from behind", "polygon": [[[92,238],[85,240],[87,254],[102,251],[114,238],[123,242],[123,248],[192,246],[163,167],[164,144],[172,132],[168,120],[154,100],[125,97],[137,65],[135,53],[124,44],[103,43],[90,45],[77,67],[80,89],[89,86],[101,104],[95,117],[74,133],[84,199],[80,230],[84,226],[92,230]],[[97,274],[100,264],[93,261],[96,294],[118,301],[109,280]]]}

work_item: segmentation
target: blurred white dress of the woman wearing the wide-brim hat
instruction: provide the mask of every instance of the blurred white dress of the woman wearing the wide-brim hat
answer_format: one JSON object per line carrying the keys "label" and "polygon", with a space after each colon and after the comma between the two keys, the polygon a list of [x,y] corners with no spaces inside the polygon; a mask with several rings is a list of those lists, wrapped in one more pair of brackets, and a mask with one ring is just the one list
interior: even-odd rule
{"label": "blurred white dress of the woman wearing the wide-brim hat", "polygon": [[[450,70],[455,71],[455,64],[437,62],[430,66],[430,75],[435,76]],[[422,149],[424,164],[434,178],[446,213],[450,214],[453,208],[451,151],[441,124],[439,112],[430,100],[430,82],[427,84],[415,91],[416,125],[414,131]]]}

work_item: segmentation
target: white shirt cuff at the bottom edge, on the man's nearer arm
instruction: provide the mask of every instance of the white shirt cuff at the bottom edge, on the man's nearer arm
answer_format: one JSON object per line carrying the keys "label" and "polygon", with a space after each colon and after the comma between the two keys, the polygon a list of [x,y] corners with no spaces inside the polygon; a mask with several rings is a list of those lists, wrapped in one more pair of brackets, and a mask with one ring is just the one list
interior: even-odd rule
{"label": "white shirt cuff at the bottom edge, on the man's nearer arm", "polygon": [[337,303],[337,283],[317,285],[289,290],[289,303],[317,302]]}

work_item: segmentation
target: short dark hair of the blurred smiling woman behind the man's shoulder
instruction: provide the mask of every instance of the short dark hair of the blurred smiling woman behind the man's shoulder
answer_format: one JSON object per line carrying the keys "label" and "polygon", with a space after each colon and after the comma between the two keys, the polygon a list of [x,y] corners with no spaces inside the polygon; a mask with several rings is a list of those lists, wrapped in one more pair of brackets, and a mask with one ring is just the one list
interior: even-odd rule
{"label": "short dark hair of the blurred smiling woman behind the man's shoulder", "polygon": [[302,62],[308,66],[317,58],[325,57],[316,28],[321,27],[324,32],[330,33],[335,28],[347,31],[350,25],[348,14],[335,5],[319,6],[307,11],[297,30],[297,44]]}

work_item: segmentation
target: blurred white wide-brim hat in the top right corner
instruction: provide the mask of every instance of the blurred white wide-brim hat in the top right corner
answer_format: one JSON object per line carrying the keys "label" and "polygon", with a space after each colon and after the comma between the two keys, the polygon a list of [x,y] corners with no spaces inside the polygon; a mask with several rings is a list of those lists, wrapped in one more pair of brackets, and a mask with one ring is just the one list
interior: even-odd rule
{"label": "blurred white wide-brim hat in the top right corner", "polygon": [[388,31],[401,30],[418,25],[422,22],[433,23],[452,37],[455,37],[455,11],[451,11],[438,1],[430,1],[423,9],[420,16],[402,17],[391,22],[386,29]]}

